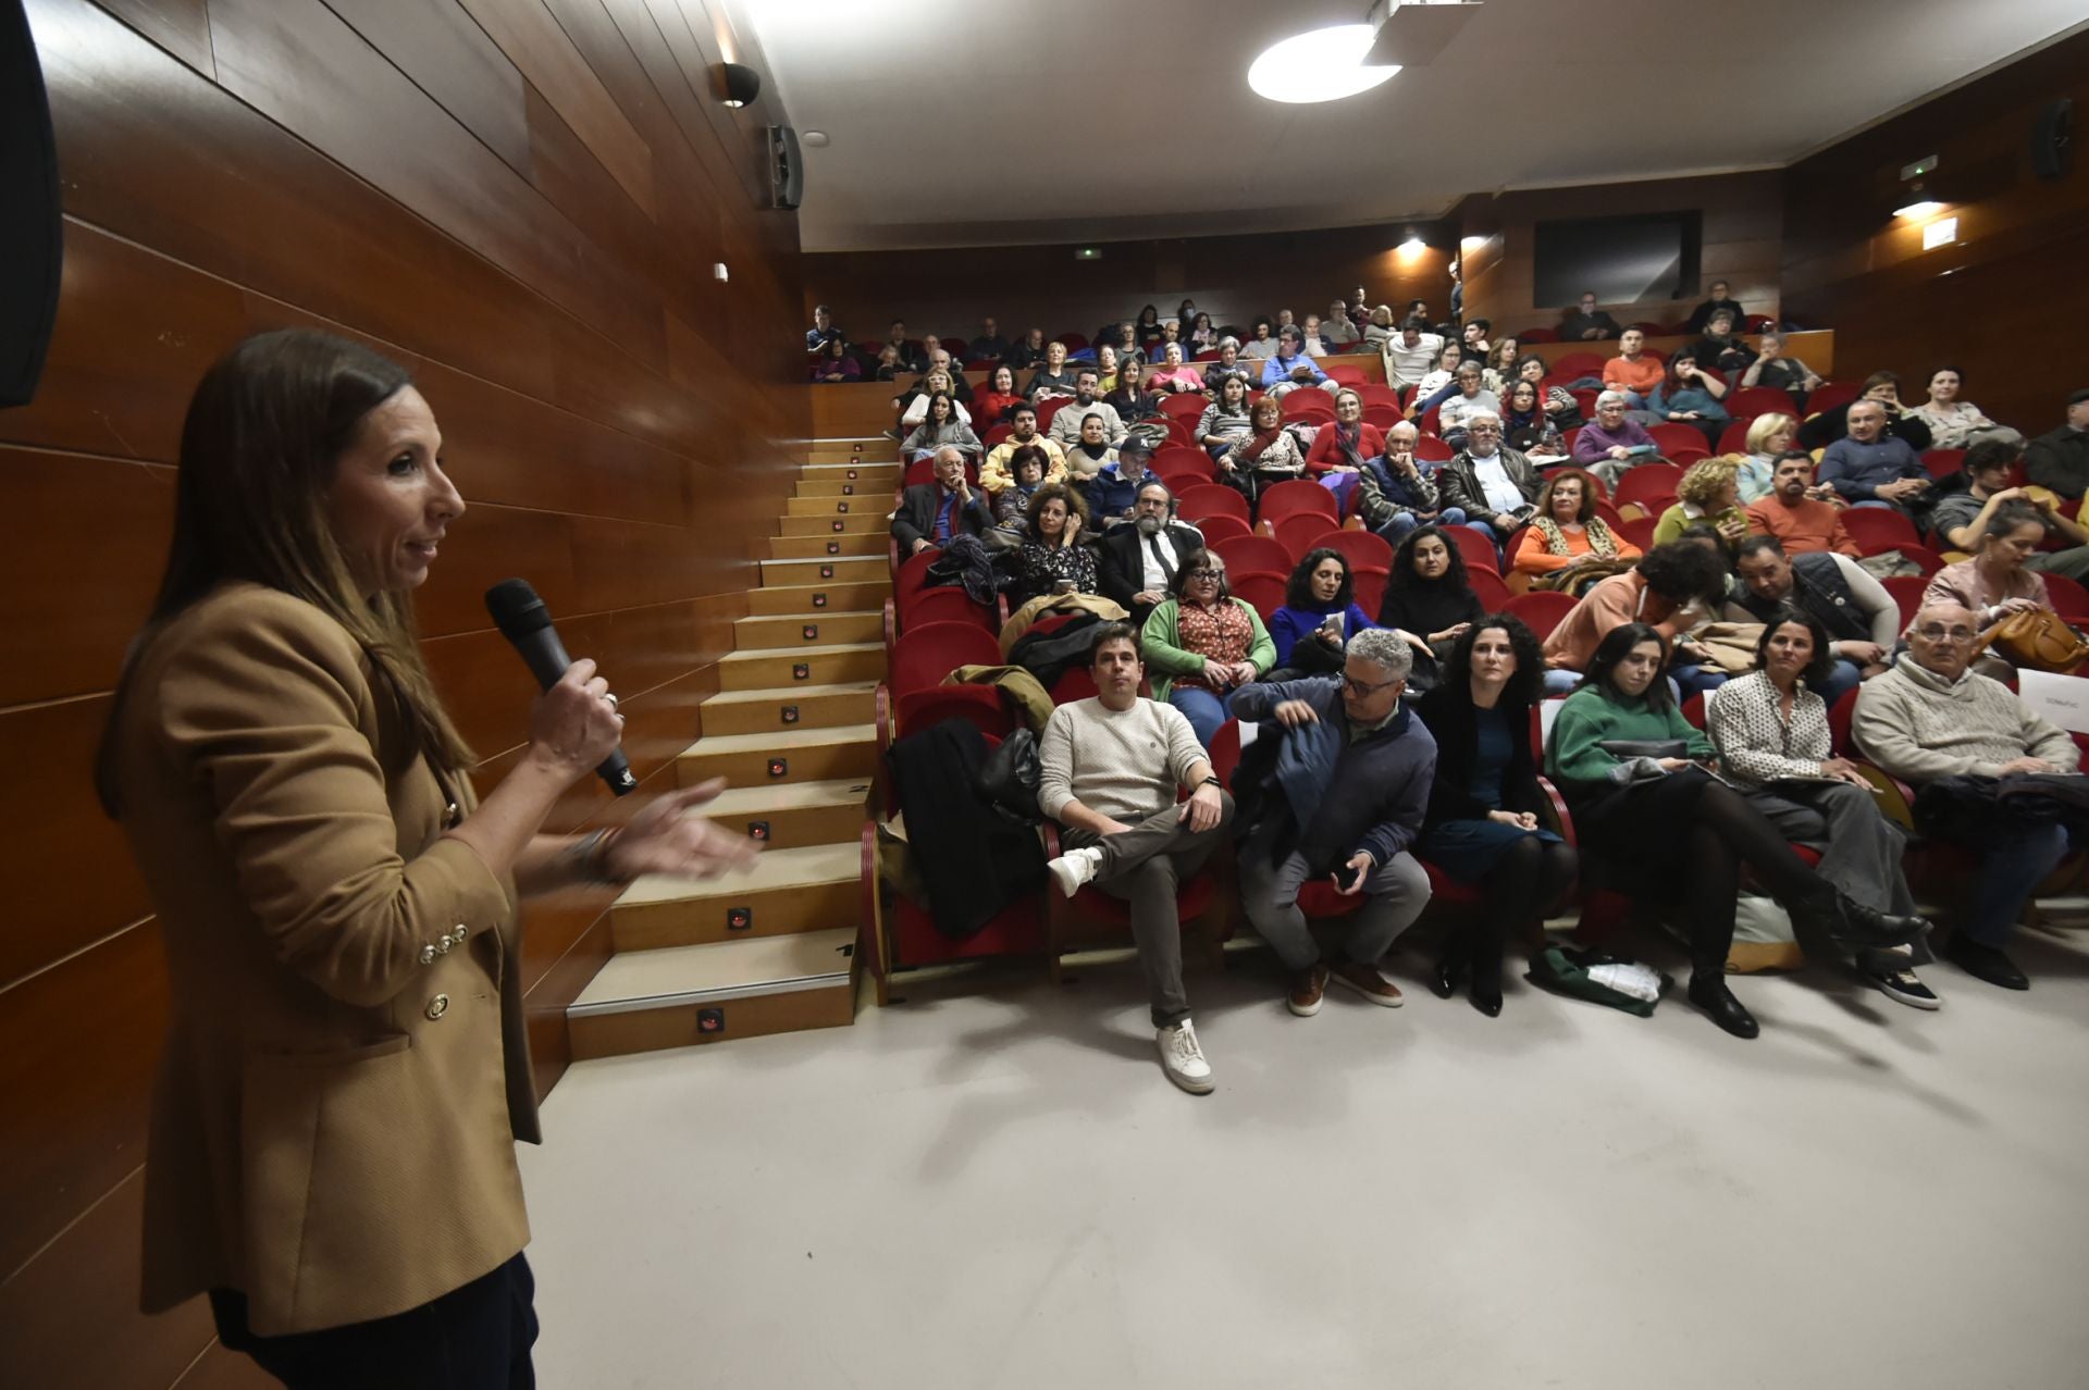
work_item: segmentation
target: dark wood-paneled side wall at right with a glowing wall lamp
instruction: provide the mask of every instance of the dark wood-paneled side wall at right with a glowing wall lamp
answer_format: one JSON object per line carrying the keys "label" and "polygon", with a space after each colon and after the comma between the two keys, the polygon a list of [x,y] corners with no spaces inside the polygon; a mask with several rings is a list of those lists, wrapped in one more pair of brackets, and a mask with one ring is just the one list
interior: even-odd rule
{"label": "dark wood-paneled side wall at right with a glowing wall lamp", "polygon": [[[2051,100],[2074,98],[2074,169],[2043,182],[2031,131]],[[2026,434],[2062,424],[2089,386],[2081,321],[2089,309],[2089,33],[2076,33],[1955,92],[1851,136],[1786,171],[1784,294],[1792,315],[1834,323],[1840,376],[1899,372],[1920,403],[1928,374],[1966,372],[1964,397]],[[1911,194],[1899,169],[1937,154]],[[1922,227],[1893,209],[1928,196],[1957,217],[1957,240],[1922,250]]]}

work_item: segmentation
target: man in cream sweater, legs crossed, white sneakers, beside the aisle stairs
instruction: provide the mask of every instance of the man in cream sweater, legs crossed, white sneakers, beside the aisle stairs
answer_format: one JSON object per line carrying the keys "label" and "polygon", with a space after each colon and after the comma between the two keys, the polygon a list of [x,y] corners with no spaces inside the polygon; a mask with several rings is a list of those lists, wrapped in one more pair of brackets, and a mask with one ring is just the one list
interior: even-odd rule
{"label": "man in cream sweater, legs crossed, white sneakers, beside the aisle stairs", "polygon": [[[1147,973],[1161,1071],[1193,1096],[1212,1089],[1182,991],[1182,922],[1176,887],[1226,839],[1233,797],[1174,705],[1139,695],[1139,630],[1111,622],[1088,657],[1095,699],[1053,710],[1038,743],[1038,810],[1065,847],[1049,864],[1067,897],[1095,883],[1132,904],[1132,941]],[[1176,804],[1176,791],[1191,797]]]}

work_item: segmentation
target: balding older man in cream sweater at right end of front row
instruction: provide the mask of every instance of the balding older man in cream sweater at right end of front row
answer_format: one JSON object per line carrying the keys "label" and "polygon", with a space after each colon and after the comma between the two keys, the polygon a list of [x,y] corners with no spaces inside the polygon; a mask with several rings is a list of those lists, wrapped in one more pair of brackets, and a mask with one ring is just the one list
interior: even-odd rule
{"label": "balding older man in cream sweater at right end of front row", "polygon": [[2003,948],[2039,881],[2089,845],[2089,816],[2079,799],[1995,793],[2026,776],[2072,774],[2081,751],[2008,687],[1970,670],[1978,628],[1957,603],[1924,603],[1907,626],[1907,651],[1857,693],[1851,737],[1916,789],[1926,839],[1980,858],[1941,954],[1974,979],[2028,989]]}

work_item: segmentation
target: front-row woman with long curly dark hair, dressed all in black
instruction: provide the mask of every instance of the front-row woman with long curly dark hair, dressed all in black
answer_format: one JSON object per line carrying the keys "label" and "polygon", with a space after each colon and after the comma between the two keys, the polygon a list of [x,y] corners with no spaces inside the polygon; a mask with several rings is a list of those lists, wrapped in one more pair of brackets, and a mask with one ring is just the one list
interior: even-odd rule
{"label": "front-row woman with long curly dark hair, dressed all in black", "polygon": [[1443,657],[1443,678],[1414,714],[1435,737],[1429,812],[1414,849],[1446,877],[1481,891],[1481,906],[1443,937],[1429,987],[1448,1000],[1466,981],[1473,1008],[1502,1012],[1502,948],[1538,929],[1575,879],[1575,852],[1540,824],[1531,705],[1544,655],[1519,618],[1494,614]]}

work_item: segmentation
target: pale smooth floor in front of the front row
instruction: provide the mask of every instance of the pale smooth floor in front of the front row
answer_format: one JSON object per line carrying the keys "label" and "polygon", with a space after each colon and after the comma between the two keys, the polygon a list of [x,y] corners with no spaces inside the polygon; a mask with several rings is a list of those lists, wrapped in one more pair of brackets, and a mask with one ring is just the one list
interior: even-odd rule
{"label": "pale smooth floor in front of the front row", "polygon": [[[1644,945],[1644,943],[1642,943]],[[1650,958],[1667,968],[1680,960]],[[541,1384],[2089,1384],[2089,931],[1916,1012],[1742,979],[1759,1041],[1521,979],[1489,1021],[1193,966],[944,981],[854,1029],[572,1067],[522,1150]]]}

